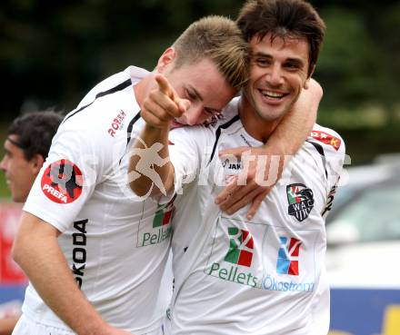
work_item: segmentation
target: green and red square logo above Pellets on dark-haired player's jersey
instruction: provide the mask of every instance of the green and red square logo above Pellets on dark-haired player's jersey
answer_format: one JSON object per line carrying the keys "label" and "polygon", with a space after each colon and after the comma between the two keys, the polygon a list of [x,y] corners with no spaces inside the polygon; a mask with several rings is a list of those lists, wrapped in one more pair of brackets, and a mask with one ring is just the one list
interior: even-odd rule
{"label": "green and red square logo above Pellets on dark-haired player's jersey", "polygon": [[224,261],[250,267],[253,259],[254,241],[250,232],[236,227],[228,228],[229,250]]}

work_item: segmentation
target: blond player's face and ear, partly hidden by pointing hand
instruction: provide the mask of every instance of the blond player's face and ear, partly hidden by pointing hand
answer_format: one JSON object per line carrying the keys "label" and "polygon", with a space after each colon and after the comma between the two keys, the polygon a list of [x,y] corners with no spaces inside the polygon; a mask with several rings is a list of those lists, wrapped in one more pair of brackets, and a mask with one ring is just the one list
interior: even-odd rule
{"label": "blond player's face and ear, partly hidden by pointing hand", "polygon": [[165,75],[180,98],[191,102],[189,109],[175,120],[173,126],[205,123],[213,115],[221,113],[235,96],[236,90],[227,83],[212,60],[205,57],[176,67],[174,50],[168,49],[165,53],[157,66],[158,72]]}

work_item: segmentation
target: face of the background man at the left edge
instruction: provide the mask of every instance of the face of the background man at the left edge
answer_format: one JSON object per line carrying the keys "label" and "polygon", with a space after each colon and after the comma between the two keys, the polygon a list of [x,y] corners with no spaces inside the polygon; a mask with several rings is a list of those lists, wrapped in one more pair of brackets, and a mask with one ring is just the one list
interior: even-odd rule
{"label": "face of the background man at the left edge", "polygon": [[[9,135],[13,142],[18,142],[18,136]],[[0,163],[0,168],[5,172],[5,180],[10,188],[11,196],[15,202],[25,202],[41,164],[37,158],[27,161],[24,151],[5,140],[5,156]]]}

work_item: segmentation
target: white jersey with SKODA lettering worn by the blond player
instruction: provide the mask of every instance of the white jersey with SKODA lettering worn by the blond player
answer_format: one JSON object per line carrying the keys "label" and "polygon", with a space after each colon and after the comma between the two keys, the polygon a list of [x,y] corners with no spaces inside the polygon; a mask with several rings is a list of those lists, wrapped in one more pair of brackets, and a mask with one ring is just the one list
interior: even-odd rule
{"label": "white jersey with SKODA lettering worn by the blond player", "polygon": [[[143,126],[134,85],[146,74],[128,67],[97,84],[66,115],[24,211],[62,232],[59,245],[75,281],[105,321],[135,334],[159,334],[172,286],[161,281],[171,204],[141,201],[126,186],[125,150]],[[32,284],[23,312],[68,329]]]}

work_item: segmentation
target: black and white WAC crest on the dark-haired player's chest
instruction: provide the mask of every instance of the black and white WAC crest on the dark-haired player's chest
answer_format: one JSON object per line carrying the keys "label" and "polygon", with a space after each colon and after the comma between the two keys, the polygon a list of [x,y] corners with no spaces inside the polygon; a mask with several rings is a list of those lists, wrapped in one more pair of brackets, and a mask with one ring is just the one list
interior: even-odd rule
{"label": "black and white WAC crest on the dark-haired player's chest", "polygon": [[292,183],[286,186],[288,213],[295,216],[298,222],[308,218],[314,207],[313,191],[303,183]]}

